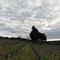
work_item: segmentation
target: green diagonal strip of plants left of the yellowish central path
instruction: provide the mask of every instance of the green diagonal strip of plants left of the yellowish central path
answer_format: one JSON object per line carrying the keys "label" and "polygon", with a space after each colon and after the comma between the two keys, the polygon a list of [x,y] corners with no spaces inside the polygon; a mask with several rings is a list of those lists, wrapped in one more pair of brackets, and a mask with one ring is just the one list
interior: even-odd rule
{"label": "green diagonal strip of plants left of the yellowish central path", "polygon": [[3,55],[0,57],[0,60],[2,60],[4,57],[8,58],[8,55],[10,53],[15,52],[17,49],[22,48],[25,45],[25,43],[17,44],[15,47],[12,47],[11,49],[6,49],[3,53]]}

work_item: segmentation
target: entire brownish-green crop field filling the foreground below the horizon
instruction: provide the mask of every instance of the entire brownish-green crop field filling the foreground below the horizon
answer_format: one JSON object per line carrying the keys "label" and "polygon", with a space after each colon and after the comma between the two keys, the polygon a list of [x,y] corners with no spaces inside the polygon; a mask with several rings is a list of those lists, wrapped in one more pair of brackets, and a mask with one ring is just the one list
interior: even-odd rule
{"label": "entire brownish-green crop field filling the foreground below the horizon", "polygon": [[60,60],[60,46],[0,40],[0,60]]}

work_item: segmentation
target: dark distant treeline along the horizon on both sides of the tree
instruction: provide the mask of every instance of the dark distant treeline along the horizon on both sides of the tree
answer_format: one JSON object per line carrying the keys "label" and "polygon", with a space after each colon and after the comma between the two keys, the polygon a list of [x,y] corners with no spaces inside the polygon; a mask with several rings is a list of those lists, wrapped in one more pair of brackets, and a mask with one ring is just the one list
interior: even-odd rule
{"label": "dark distant treeline along the horizon on both sides of the tree", "polygon": [[[21,38],[21,37],[2,37],[0,36],[0,40],[20,40],[20,41],[32,41],[30,39]],[[48,45],[60,45],[60,41],[46,41],[44,44]]]}

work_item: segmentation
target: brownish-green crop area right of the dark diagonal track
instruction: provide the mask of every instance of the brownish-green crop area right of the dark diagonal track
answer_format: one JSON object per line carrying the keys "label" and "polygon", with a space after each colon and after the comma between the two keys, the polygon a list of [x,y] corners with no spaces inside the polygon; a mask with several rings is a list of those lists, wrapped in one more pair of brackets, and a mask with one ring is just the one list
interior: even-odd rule
{"label": "brownish-green crop area right of the dark diagonal track", "polygon": [[48,60],[60,60],[60,46],[57,45],[40,45],[41,52],[45,54]]}

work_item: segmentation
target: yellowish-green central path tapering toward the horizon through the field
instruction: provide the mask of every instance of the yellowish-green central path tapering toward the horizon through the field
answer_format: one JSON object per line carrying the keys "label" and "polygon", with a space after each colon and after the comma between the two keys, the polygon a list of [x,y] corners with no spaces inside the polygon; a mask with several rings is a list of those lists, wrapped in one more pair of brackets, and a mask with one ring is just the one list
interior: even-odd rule
{"label": "yellowish-green central path tapering toward the horizon through the field", "polygon": [[24,48],[21,49],[21,60],[38,60],[38,56],[34,53],[31,46],[27,43]]}

